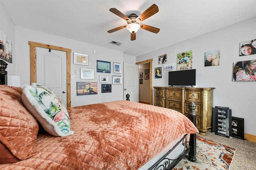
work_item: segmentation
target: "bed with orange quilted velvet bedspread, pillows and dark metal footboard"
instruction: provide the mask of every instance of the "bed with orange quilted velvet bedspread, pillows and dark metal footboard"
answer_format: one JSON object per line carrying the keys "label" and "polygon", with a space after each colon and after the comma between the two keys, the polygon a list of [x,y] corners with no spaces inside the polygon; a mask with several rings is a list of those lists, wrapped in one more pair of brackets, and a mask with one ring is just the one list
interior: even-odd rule
{"label": "bed with orange quilted velvet bedspread, pillows and dark metal footboard", "polygon": [[[51,95],[51,109],[39,108]],[[195,104],[189,108],[188,117],[128,100],[65,108],[39,84],[0,85],[0,169],[172,169],[187,154],[196,160]]]}

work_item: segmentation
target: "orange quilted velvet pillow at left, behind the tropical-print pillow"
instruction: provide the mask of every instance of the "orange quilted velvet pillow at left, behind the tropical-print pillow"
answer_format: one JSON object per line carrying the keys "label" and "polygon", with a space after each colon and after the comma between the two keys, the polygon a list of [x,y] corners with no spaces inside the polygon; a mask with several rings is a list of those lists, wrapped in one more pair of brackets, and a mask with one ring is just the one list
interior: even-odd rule
{"label": "orange quilted velvet pillow at left, behind the tropical-print pillow", "polygon": [[38,121],[21,101],[22,89],[0,85],[0,164],[33,156]]}

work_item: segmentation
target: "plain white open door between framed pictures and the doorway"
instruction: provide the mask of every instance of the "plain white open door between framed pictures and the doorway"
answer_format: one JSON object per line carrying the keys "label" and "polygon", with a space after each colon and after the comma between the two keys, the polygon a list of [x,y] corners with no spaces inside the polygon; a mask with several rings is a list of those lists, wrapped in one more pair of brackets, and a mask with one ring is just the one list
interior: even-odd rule
{"label": "plain white open door between framed pictures and the doorway", "polygon": [[130,95],[130,101],[138,102],[138,65],[124,63],[124,100],[126,94]]}

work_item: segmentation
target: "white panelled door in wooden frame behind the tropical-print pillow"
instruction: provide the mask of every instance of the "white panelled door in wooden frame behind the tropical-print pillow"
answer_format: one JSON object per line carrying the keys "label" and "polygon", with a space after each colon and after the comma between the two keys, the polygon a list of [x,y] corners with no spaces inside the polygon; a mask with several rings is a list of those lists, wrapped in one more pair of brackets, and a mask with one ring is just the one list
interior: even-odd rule
{"label": "white panelled door in wooden frame behind the tropical-print pillow", "polygon": [[66,52],[36,47],[36,82],[50,88],[67,107]]}

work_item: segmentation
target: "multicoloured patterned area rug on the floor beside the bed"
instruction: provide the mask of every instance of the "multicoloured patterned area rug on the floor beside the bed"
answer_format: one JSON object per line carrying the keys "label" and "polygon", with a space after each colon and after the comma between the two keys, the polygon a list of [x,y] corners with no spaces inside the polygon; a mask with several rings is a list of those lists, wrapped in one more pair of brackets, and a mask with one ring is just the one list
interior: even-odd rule
{"label": "multicoloured patterned area rug on the floor beside the bed", "polygon": [[196,136],[196,162],[186,155],[173,170],[229,170],[236,149]]}

